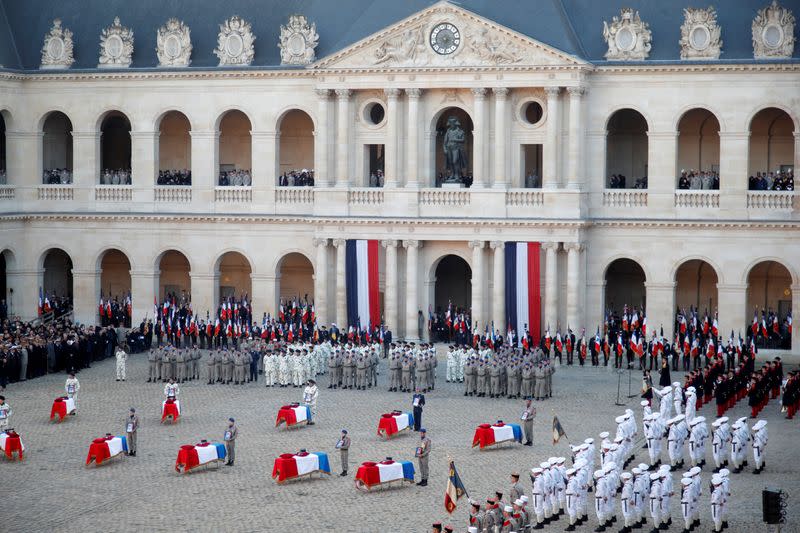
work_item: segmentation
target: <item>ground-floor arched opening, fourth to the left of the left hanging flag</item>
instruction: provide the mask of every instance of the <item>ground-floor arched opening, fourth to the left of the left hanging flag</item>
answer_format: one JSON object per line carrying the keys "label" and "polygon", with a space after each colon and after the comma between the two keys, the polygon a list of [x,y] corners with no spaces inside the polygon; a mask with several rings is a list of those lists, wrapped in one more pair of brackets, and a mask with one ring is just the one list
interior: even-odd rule
{"label": "ground-floor arched opening, fourth to the left of the left hanging flag", "polygon": [[[100,294],[99,299],[105,304],[105,312],[98,307],[102,325],[119,325],[130,327],[131,317],[128,305],[133,301],[131,295],[131,262],[123,252],[106,250],[100,257]],[[99,300],[98,300],[99,302]],[[132,310],[132,307],[131,307]]]}

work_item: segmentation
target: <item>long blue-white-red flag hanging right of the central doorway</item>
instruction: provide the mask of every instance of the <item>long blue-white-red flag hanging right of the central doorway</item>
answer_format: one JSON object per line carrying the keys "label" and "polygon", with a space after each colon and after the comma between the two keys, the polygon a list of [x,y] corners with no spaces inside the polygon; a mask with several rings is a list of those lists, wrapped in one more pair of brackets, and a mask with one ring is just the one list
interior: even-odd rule
{"label": "long blue-white-red flag hanging right of the central doorway", "polygon": [[541,338],[540,248],[538,242],[505,244],[506,321],[510,329],[520,334],[527,330],[533,339]]}

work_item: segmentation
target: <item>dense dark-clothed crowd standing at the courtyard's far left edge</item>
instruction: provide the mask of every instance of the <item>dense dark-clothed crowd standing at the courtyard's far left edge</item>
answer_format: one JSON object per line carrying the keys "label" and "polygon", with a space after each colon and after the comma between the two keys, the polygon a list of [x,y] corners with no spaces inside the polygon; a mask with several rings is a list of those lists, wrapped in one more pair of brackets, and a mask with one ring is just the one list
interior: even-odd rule
{"label": "dense dark-clothed crowd standing at the courtyard's far left edge", "polygon": [[79,326],[67,319],[33,325],[18,318],[0,323],[0,391],[8,383],[55,372],[77,372],[114,355],[122,329]]}

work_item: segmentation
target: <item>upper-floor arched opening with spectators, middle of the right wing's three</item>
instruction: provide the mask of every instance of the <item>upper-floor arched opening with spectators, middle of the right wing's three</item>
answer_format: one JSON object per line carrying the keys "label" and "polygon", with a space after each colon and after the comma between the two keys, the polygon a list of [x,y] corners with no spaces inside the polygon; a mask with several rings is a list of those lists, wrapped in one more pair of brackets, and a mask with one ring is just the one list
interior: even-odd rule
{"label": "upper-floor arched opening with spectators, middle of the right wing's three", "polygon": [[679,189],[719,189],[719,120],[707,109],[687,111],[678,122]]}

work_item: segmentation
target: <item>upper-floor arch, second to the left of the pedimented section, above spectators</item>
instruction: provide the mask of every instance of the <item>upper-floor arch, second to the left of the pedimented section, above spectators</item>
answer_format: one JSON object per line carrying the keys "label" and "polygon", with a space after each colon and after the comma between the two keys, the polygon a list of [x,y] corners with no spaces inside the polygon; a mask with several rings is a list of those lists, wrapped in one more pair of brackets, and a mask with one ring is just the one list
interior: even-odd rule
{"label": "upper-floor arch, second to the left of the pedimented section, above spectators", "polygon": [[250,115],[238,108],[230,108],[217,117],[215,128],[217,136],[218,173],[252,169],[253,120]]}

